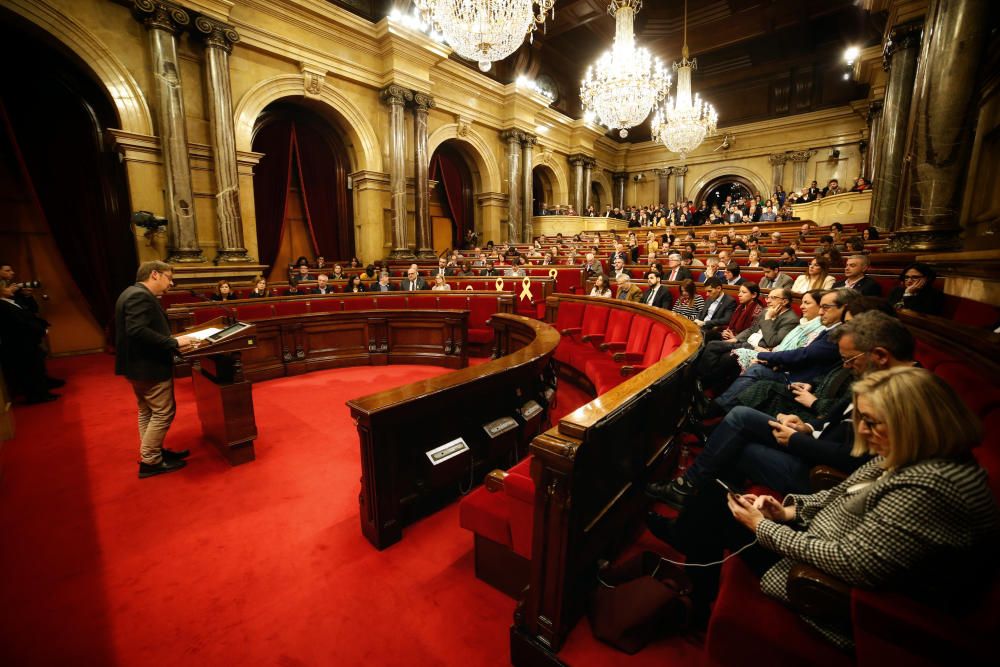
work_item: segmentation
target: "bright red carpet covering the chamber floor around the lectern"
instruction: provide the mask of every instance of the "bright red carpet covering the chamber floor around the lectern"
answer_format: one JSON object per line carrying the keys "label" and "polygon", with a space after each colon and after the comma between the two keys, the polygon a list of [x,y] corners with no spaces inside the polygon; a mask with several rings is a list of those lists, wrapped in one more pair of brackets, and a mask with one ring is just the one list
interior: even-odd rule
{"label": "bright red carpet covering the chamber floor around the lectern", "polygon": [[[147,480],[112,358],[50,371],[68,380],[63,398],[19,407],[2,450],[3,664],[509,664],[514,602],[475,578],[457,503],[383,552],[360,532],[344,401],[447,370],[257,384],[257,460],[237,468],[201,443],[190,380],[179,381],[167,444],[189,447],[189,465]],[[559,393],[556,416],[587,400],[566,383]]]}

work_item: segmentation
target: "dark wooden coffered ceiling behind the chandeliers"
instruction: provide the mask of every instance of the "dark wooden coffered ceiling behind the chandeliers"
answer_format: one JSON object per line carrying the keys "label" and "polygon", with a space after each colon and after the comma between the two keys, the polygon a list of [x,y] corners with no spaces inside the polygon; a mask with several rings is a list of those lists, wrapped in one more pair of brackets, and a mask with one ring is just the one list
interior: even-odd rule
{"label": "dark wooden coffered ceiling behind the chandeliers", "polygon": [[[412,6],[411,0],[330,1],[373,20],[393,6]],[[488,76],[502,83],[521,74],[541,79],[555,88],[553,107],[580,118],[580,81],[614,38],[607,9],[607,0],[556,0],[555,20],[534,44],[526,40]],[[683,0],[645,0],[636,16],[636,42],[667,66],[680,58],[683,11]],[[844,80],[841,56],[850,45],[878,44],[884,20],[854,0],[689,0],[694,90],[715,105],[720,129],[863,99],[866,88]],[[648,138],[647,120],[628,141]]]}

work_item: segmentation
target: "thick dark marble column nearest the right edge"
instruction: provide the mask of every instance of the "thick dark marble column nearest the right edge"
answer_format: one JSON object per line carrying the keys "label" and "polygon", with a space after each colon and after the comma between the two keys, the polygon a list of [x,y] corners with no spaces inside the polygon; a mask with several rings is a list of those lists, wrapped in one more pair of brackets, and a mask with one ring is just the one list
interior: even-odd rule
{"label": "thick dark marble column nearest the right edge", "polygon": [[972,154],[977,75],[986,60],[990,0],[931,0],[920,47],[908,139],[900,250],[961,247],[959,211]]}

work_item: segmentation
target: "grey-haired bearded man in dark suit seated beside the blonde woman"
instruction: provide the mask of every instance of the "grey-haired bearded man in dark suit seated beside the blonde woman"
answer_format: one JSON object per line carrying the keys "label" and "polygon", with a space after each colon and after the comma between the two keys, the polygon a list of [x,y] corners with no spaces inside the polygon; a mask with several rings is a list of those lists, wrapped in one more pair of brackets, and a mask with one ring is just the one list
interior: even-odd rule
{"label": "grey-haired bearded man in dark suit seated beside the blonde woman", "polygon": [[[830,337],[841,363],[855,378],[916,364],[913,335],[885,313],[861,313]],[[705,449],[682,476],[651,483],[646,493],[681,507],[702,484],[716,477],[734,486],[749,478],[781,494],[810,493],[812,467],[828,465],[850,473],[868,460],[851,455],[853,412],[850,392],[825,415],[808,422],[794,415],[772,416],[737,407],[712,432]]]}

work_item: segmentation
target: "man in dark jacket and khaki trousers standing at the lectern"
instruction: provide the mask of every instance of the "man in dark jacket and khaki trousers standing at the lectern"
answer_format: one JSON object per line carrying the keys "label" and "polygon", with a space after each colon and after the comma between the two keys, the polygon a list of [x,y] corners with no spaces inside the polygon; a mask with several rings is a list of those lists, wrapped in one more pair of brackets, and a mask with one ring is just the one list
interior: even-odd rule
{"label": "man in dark jacket and khaki trousers standing at the lectern", "polygon": [[173,284],[173,267],[157,260],[143,262],[136,284],[115,303],[115,375],[124,375],[139,406],[139,479],[180,470],[188,450],[163,447],[174,420],[174,352],[197,346],[190,336],[170,335],[170,324],[157,297]]}

